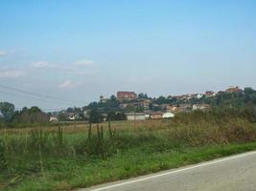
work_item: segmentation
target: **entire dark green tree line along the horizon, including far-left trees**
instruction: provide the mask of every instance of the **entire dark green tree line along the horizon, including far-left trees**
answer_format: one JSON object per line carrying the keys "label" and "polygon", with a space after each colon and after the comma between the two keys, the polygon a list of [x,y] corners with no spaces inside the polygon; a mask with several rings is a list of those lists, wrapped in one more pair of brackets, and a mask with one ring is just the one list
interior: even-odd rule
{"label": "entire dark green tree line along the horizon, including far-left trees", "polygon": [[[255,111],[256,108],[256,90],[252,88],[244,88],[239,93],[219,92],[216,96],[202,96],[200,98],[191,98],[187,100],[177,99],[174,96],[159,96],[151,98],[147,94],[139,94],[139,99],[151,99],[150,110],[158,111],[161,107],[155,107],[153,104],[173,104],[178,105],[182,103],[189,104],[210,104],[213,108],[249,108],[250,111]],[[134,101],[134,100],[133,100]],[[122,102],[124,103],[124,102]],[[127,101],[125,103],[132,103]],[[89,111],[88,116],[84,116],[83,112]],[[125,109],[121,108],[121,102],[115,97],[110,96],[105,102],[94,101],[83,108],[68,108],[65,112],[60,112],[59,120],[67,120],[68,114],[73,113],[79,115],[83,120],[91,122],[98,122],[106,120],[124,120],[126,119],[126,112],[143,112],[144,108],[134,107],[128,104]],[[46,114],[38,107],[31,108],[24,107],[21,111],[15,111],[15,107],[9,102],[0,102],[0,127],[6,126],[28,126],[35,124],[48,123],[51,114]]]}

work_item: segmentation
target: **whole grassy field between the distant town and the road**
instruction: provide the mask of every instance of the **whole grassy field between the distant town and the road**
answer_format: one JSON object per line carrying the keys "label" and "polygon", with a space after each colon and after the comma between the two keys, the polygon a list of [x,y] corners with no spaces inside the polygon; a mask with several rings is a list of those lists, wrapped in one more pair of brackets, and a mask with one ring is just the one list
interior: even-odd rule
{"label": "whole grassy field between the distant town and the road", "polygon": [[256,149],[244,114],[0,130],[1,190],[71,190]]}

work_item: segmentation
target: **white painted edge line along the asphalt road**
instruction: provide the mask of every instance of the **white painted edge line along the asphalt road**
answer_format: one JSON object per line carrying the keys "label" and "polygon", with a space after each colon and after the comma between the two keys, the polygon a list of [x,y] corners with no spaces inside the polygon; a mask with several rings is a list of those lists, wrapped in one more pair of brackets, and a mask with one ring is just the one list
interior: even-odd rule
{"label": "white painted edge line along the asphalt road", "polygon": [[215,159],[215,160],[212,160],[212,161],[204,162],[204,163],[201,163],[201,164],[198,164],[198,165],[194,165],[194,166],[187,167],[187,168],[182,168],[182,169],[179,169],[179,170],[173,170],[173,171],[170,171],[170,172],[165,172],[165,173],[161,173],[161,174],[157,174],[157,175],[152,175],[152,176],[145,177],[145,178],[139,178],[137,180],[128,180],[128,181],[125,181],[125,182],[116,183],[116,184],[108,185],[108,186],[105,186],[105,187],[95,188],[95,189],[92,189],[91,191],[102,191],[102,190],[106,190],[106,189],[110,189],[110,188],[115,188],[115,187],[127,185],[127,184],[130,184],[130,183],[135,183],[135,182],[138,182],[138,181],[151,180],[151,179],[154,179],[154,178],[159,178],[159,177],[163,177],[163,176],[166,176],[166,175],[172,175],[172,174],[175,174],[175,173],[180,173],[180,172],[192,170],[192,169],[195,169],[195,168],[198,168],[198,167],[207,166],[207,165],[211,165],[211,164],[216,164],[216,163],[226,161],[226,160],[230,160],[230,159],[243,158],[243,157],[246,157],[246,156],[249,156],[249,155],[254,155],[254,154],[256,154],[256,151],[248,152],[248,153],[241,154],[241,155],[236,155],[236,156],[233,156],[233,157],[227,157],[227,158],[224,158],[224,159]]}

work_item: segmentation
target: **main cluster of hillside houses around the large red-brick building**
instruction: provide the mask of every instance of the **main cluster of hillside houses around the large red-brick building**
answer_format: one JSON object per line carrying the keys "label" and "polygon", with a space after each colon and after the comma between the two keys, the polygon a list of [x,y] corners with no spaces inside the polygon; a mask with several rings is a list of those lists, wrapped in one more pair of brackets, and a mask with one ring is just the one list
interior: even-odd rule
{"label": "main cluster of hillside houses around the large red-brick building", "polygon": [[[230,87],[225,91],[220,91],[218,93],[214,91],[206,91],[204,94],[188,94],[181,96],[169,96],[168,98],[175,98],[177,100],[181,100],[183,102],[189,102],[191,99],[199,99],[203,96],[205,97],[214,97],[221,93],[242,93],[243,90],[238,86]],[[211,108],[210,104],[201,103],[201,104],[190,104],[190,103],[182,103],[182,104],[156,104],[153,103],[150,98],[138,98],[138,96],[134,92],[118,92],[117,99],[121,101],[120,107],[122,109],[126,109],[128,105],[134,107],[142,107],[145,109],[143,113],[126,113],[128,120],[145,120],[145,119],[160,119],[160,118],[172,118],[175,117],[176,113],[184,113],[191,111],[209,111]],[[126,100],[133,100],[132,102],[127,103]],[[124,102],[124,103],[122,103]],[[150,109],[150,105],[152,107],[159,107],[161,111],[153,112]]]}

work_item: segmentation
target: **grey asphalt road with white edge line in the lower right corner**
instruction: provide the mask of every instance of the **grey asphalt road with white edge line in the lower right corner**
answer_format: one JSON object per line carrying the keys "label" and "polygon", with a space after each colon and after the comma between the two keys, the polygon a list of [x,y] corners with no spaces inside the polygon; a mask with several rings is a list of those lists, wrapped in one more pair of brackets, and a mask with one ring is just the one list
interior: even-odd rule
{"label": "grey asphalt road with white edge line in the lower right corner", "polygon": [[256,191],[256,152],[80,191]]}

